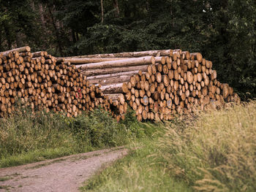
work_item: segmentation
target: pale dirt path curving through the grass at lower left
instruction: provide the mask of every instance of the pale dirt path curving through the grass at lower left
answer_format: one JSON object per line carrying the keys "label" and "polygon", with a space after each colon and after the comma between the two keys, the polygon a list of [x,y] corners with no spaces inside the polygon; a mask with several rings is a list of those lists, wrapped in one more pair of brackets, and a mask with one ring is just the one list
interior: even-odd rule
{"label": "pale dirt path curving through the grass at lower left", "polygon": [[117,147],[0,169],[0,191],[73,192],[103,164],[127,154]]}

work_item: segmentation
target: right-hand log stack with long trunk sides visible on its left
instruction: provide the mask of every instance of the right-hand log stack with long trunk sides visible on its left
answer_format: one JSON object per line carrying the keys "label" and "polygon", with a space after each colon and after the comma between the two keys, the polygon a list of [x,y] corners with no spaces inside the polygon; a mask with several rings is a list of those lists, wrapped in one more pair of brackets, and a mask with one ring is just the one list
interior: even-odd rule
{"label": "right-hand log stack with long trunk sides visible on its left", "polygon": [[212,62],[200,53],[151,50],[59,59],[75,64],[92,85],[102,85],[118,114],[129,104],[139,121],[170,120],[176,113],[240,101],[233,88],[217,80]]}

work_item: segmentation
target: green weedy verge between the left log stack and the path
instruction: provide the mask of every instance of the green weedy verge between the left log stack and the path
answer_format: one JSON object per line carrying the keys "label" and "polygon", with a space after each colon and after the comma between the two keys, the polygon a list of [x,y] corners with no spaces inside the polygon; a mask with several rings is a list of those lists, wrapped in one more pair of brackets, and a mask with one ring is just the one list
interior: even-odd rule
{"label": "green weedy verge between the left log stack and the path", "polygon": [[0,119],[0,167],[127,145],[148,131],[131,112],[117,123],[100,110],[66,118],[20,108],[12,117]]}

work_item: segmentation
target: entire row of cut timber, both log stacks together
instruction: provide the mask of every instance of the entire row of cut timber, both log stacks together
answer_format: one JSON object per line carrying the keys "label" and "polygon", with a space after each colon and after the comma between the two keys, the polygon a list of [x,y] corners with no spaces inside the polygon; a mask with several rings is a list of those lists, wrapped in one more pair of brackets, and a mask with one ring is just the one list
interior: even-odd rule
{"label": "entire row of cut timber, both log stacks together", "polygon": [[150,50],[55,58],[20,47],[0,53],[0,115],[15,111],[17,99],[32,110],[67,116],[102,107],[117,120],[127,107],[141,120],[170,120],[225,102],[240,102],[217,80],[200,53]]}

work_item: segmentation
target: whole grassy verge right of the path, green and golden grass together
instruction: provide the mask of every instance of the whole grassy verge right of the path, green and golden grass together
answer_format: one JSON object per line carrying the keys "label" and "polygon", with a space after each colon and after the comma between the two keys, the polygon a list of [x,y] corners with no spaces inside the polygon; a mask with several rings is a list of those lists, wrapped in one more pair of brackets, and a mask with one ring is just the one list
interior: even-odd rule
{"label": "whole grassy verge right of the path, green and golden grass together", "polygon": [[162,128],[81,191],[256,191],[256,101]]}

